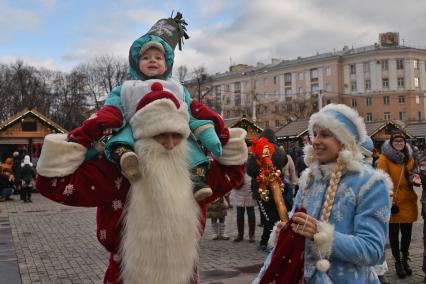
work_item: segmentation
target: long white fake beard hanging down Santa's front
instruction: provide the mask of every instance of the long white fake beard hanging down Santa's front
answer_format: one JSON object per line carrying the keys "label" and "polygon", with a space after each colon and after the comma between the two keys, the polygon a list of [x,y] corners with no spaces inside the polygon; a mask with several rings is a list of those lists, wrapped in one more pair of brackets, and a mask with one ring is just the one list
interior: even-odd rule
{"label": "long white fake beard hanging down Santa's front", "polygon": [[124,283],[188,284],[200,240],[186,140],[165,150],[154,139],[135,144],[142,177],[129,191],[122,239]]}

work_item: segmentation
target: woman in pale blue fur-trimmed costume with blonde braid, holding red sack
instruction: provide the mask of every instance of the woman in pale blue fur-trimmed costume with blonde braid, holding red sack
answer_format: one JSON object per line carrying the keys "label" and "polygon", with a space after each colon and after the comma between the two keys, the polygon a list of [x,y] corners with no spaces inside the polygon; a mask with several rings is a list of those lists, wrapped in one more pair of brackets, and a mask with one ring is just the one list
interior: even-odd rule
{"label": "woman in pale blue fur-trimmed costume with blonde braid, holding red sack", "polygon": [[[253,283],[283,283],[282,277],[293,280],[285,283],[380,283],[373,266],[385,251],[391,181],[362,162],[357,144],[365,141],[364,121],[346,105],[329,104],[311,116],[309,133],[308,168],[285,227],[305,239],[289,239],[284,249],[280,243],[280,255],[268,256]],[[295,271],[302,273],[292,277]]]}

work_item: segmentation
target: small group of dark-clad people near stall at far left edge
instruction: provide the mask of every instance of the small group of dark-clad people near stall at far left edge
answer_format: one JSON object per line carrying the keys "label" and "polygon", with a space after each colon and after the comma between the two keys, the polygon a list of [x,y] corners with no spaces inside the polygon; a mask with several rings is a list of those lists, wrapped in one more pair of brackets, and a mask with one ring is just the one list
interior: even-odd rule
{"label": "small group of dark-clad people near stall at far left edge", "polygon": [[14,200],[13,194],[19,194],[23,202],[32,202],[36,171],[30,156],[15,151],[0,165],[0,202]]}

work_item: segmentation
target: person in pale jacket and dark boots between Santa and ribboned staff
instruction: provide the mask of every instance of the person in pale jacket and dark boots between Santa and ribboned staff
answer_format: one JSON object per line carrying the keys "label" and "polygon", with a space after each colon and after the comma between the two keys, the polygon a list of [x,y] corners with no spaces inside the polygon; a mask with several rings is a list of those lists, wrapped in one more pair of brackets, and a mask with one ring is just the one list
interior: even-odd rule
{"label": "person in pale jacket and dark boots between Santa and ribboned staff", "polygon": [[246,173],[244,175],[244,184],[240,188],[234,188],[229,197],[233,207],[237,208],[237,230],[238,235],[234,242],[241,242],[244,239],[244,213],[247,211],[249,242],[254,243],[254,233],[256,230],[256,216],[254,206],[256,201],[251,192],[251,177]]}

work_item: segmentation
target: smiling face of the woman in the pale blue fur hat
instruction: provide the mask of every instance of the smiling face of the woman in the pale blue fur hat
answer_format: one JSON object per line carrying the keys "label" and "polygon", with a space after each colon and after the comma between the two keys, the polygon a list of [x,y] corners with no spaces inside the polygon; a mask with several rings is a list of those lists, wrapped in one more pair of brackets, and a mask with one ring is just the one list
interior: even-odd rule
{"label": "smiling face of the woman in the pale blue fur hat", "polygon": [[337,160],[340,150],[343,145],[334,136],[334,134],[326,129],[315,127],[314,139],[312,140],[314,147],[315,159],[320,164],[327,164]]}

